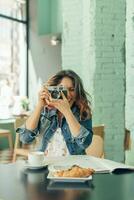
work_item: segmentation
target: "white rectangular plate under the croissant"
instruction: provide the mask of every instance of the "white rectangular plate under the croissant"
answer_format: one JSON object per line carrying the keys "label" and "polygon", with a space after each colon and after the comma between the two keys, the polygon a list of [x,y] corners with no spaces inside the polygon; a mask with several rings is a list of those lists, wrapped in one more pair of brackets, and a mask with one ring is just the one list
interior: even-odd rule
{"label": "white rectangular plate under the croissant", "polygon": [[49,172],[48,179],[51,179],[55,182],[85,182],[85,181],[89,181],[92,180],[92,176],[88,176],[88,177],[82,177],[82,178],[74,178],[74,177],[55,177],[53,176],[53,172]]}

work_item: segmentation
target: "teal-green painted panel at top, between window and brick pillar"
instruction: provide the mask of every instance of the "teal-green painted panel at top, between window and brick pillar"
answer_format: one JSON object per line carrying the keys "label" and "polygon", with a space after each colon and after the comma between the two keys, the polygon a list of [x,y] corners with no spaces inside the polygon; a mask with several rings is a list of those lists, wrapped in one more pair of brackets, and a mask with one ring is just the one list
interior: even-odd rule
{"label": "teal-green painted panel at top, between window and brick pillar", "polygon": [[37,26],[39,35],[62,32],[62,0],[38,0]]}

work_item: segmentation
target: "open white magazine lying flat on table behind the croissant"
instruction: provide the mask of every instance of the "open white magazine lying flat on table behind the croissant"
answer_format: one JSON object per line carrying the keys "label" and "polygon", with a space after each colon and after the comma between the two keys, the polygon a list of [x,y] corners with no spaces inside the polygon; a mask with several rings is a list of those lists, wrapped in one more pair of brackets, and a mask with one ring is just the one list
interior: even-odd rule
{"label": "open white magazine lying flat on table behind the croissant", "polygon": [[60,166],[79,165],[85,168],[92,168],[95,173],[110,173],[115,170],[134,170],[134,166],[128,166],[123,163],[114,162],[108,159],[96,158],[93,156],[66,156],[57,158],[46,158],[49,165],[57,168]]}

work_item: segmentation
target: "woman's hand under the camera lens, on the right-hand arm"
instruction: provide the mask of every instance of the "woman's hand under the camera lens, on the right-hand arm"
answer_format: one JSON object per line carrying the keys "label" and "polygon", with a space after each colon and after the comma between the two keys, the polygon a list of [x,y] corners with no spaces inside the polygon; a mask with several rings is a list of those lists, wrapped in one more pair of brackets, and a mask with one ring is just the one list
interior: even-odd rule
{"label": "woman's hand under the camera lens, on the right-hand arm", "polygon": [[62,99],[52,99],[49,102],[49,105],[58,109],[65,116],[65,114],[68,114],[68,112],[70,112],[70,104],[63,92],[61,92],[61,95]]}

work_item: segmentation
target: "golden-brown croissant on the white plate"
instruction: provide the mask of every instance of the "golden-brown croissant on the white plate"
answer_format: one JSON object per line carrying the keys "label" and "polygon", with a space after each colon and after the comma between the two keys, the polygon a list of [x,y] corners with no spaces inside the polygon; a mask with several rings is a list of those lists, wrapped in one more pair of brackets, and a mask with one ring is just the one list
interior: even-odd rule
{"label": "golden-brown croissant on the white plate", "polygon": [[54,172],[55,177],[88,177],[92,175],[95,171],[90,168],[83,168],[77,165],[72,166],[68,170],[61,170]]}

